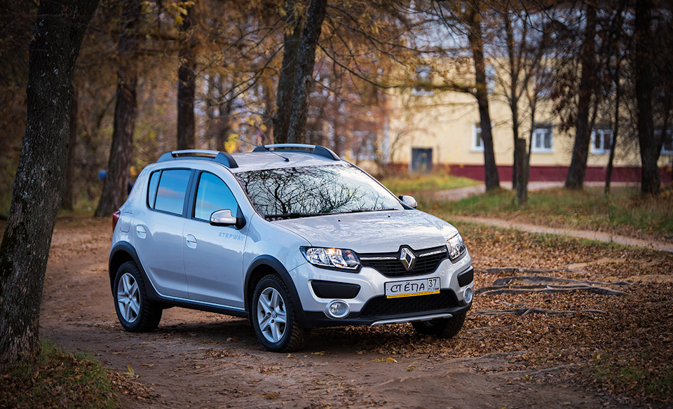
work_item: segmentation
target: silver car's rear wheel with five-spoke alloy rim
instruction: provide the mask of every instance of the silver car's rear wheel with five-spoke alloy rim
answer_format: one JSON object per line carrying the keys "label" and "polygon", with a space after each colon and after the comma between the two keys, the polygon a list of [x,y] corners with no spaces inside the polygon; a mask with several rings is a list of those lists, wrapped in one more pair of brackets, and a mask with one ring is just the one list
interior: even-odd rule
{"label": "silver car's rear wheel with five-spoke alloy rim", "polygon": [[114,309],[126,331],[153,331],[161,321],[163,309],[147,298],[145,284],[137,266],[127,261],[119,266],[114,278]]}

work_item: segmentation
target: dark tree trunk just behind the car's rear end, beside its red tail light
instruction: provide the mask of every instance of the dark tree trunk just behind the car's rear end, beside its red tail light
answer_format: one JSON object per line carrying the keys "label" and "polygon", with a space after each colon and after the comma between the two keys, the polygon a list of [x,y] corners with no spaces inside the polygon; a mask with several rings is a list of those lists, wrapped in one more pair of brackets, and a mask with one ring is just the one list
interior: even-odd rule
{"label": "dark tree trunk just behind the car's rear end, beside its red tail light", "polygon": [[128,193],[129,169],[133,150],[133,132],[137,117],[136,88],[138,83],[138,29],[142,13],[140,0],[125,0],[119,36],[119,69],[117,99],[114,107],[114,130],[103,192],[94,216],[113,214],[123,205]]}

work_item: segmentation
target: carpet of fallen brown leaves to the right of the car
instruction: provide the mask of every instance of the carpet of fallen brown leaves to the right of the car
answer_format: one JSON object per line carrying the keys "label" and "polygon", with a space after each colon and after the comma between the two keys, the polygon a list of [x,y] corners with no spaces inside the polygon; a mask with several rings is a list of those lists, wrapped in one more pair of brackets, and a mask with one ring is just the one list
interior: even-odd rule
{"label": "carpet of fallen brown leaves to the right of the car", "polygon": [[[370,330],[376,336],[367,338],[370,342],[362,349],[437,359],[503,354],[508,365],[490,370],[571,370],[580,373],[583,384],[618,396],[623,403],[673,405],[673,254],[513,230],[458,227],[478,271],[476,288],[512,276],[505,267],[515,266],[549,269],[544,275],[564,279],[628,282],[608,286],[627,295],[585,291],[477,295],[463,331],[452,340],[428,343],[410,326],[382,327]],[[515,307],[566,313],[480,313]],[[353,342],[362,342],[361,335],[358,330]],[[530,380],[541,382],[545,377],[533,375]]]}

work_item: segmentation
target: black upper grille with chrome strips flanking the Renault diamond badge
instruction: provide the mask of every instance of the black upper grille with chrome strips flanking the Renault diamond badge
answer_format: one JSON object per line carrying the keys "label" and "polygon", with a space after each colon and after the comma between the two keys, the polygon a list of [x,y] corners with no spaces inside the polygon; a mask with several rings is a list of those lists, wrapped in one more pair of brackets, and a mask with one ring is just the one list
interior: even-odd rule
{"label": "black upper grille with chrome strips flanking the Renault diamond badge", "polygon": [[442,261],[449,258],[447,247],[435,247],[415,251],[416,265],[407,271],[400,261],[400,251],[396,253],[359,254],[363,267],[371,267],[387,277],[406,277],[409,275],[424,275],[435,272]]}

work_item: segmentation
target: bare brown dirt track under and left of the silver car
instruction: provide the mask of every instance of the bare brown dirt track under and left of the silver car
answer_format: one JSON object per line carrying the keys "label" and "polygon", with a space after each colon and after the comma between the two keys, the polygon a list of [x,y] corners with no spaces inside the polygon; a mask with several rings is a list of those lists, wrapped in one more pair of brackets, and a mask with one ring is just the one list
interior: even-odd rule
{"label": "bare brown dirt track under and left of the silver car", "polygon": [[[362,327],[314,330],[305,351],[297,354],[266,352],[244,319],[181,308],[165,310],[153,333],[126,333],[116,319],[107,279],[110,228],[109,221],[57,223],[41,327],[44,336],[66,349],[88,351],[112,371],[127,373],[122,377],[133,382],[124,382],[127,394],[120,392],[125,407],[604,405],[601,396],[573,385],[572,377],[559,377],[555,368],[502,370],[511,354],[488,354],[488,349],[482,356],[459,359],[413,351],[378,353],[377,347],[386,347],[388,338]],[[411,331],[401,327],[395,331]],[[480,337],[478,329],[465,328],[451,342],[458,345]],[[427,346],[433,340],[418,342]],[[531,382],[531,374],[538,382]]]}

